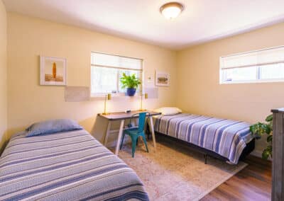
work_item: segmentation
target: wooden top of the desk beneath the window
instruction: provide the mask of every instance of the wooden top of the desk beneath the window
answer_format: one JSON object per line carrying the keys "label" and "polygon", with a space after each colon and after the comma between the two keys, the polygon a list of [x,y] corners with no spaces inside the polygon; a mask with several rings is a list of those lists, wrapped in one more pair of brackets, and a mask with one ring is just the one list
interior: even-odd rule
{"label": "wooden top of the desk beneath the window", "polygon": [[150,113],[150,115],[148,116],[155,116],[155,115],[161,115],[161,113],[155,113],[151,110],[145,110],[145,111],[141,111],[141,110],[133,110],[130,113],[124,113],[124,112],[120,112],[120,113],[109,113],[109,115],[103,115],[103,114],[98,114],[100,117],[104,117],[108,120],[126,120],[126,119],[130,119],[132,115],[137,114],[137,113]]}

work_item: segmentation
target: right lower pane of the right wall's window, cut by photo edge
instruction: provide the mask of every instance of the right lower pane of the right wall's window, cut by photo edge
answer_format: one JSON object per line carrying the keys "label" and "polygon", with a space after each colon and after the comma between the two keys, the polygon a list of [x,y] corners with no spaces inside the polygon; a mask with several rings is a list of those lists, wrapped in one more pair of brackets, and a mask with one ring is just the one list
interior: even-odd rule
{"label": "right lower pane of the right wall's window, cut by photo edge", "polygon": [[261,66],[260,79],[284,79],[284,64]]}

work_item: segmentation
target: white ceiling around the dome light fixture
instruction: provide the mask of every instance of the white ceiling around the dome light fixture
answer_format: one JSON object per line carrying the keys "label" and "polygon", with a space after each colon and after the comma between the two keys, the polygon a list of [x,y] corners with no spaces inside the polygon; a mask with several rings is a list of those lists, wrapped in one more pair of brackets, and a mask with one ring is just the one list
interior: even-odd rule
{"label": "white ceiling around the dome light fixture", "polygon": [[284,21],[283,0],[177,0],[178,18],[159,12],[166,0],[4,0],[7,11],[180,50]]}

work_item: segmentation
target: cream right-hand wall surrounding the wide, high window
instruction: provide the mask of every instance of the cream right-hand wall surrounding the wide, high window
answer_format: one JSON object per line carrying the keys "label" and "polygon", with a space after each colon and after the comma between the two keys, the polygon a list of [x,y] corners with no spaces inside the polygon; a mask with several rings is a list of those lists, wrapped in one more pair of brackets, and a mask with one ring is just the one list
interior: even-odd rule
{"label": "cream right-hand wall surrounding the wide, high window", "polygon": [[[284,107],[284,83],[219,84],[219,57],[284,45],[284,23],[208,42],[178,52],[178,106],[190,113],[264,121]],[[255,154],[266,146],[258,141]]]}

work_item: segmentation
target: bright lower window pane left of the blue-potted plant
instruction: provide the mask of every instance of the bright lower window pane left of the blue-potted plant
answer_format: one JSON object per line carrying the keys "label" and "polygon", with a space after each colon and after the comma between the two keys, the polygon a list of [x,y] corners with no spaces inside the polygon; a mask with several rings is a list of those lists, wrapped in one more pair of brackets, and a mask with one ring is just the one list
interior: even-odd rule
{"label": "bright lower window pane left of the blue-potted plant", "polygon": [[118,69],[91,67],[91,93],[116,91]]}

